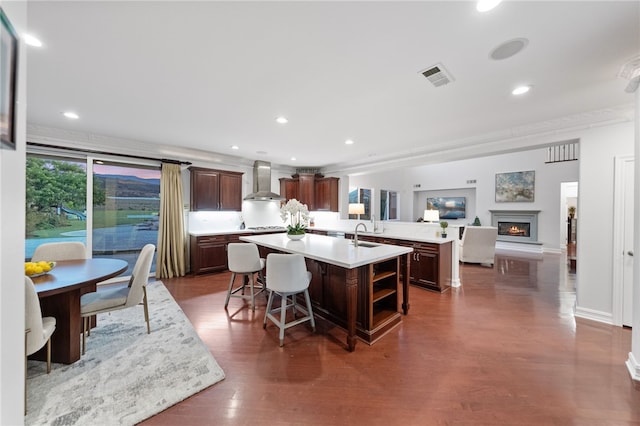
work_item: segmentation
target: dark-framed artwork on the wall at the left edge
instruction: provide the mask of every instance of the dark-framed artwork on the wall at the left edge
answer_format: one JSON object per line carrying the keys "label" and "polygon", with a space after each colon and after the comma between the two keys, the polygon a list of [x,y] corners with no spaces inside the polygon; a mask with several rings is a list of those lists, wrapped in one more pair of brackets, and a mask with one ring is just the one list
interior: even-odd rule
{"label": "dark-framed artwork on the wall at the left edge", "polygon": [[0,144],[15,149],[18,36],[2,8],[0,21]]}

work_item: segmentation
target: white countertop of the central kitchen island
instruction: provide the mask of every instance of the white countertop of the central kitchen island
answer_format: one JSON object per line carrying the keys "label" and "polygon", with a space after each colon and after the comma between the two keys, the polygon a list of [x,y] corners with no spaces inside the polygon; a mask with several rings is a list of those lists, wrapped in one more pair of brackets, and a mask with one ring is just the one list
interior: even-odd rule
{"label": "white countertop of the central kitchen island", "polygon": [[[355,247],[351,240],[306,234],[300,241],[290,240],[285,233],[242,236],[240,240],[286,253],[329,263],[346,269],[357,268],[413,251],[410,247],[375,244],[375,247]],[[367,242],[372,245],[373,243]]]}

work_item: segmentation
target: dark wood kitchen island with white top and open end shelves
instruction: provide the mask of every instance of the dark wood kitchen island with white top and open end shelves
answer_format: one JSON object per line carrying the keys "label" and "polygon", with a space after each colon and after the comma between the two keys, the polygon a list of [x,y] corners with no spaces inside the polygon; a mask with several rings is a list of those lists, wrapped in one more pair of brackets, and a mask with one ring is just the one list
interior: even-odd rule
{"label": "dark wood kitchen island with white top and open end shelves", "polygon": [[[301,254],[312,274],[309,294],[314,313],[347,331],[347,349],[359,337],[373,344],[402,321],[409,311],[409,254],[411,247],[306,234],[292,241],[285,233],[242,236],[269,252]],[[269,286],[267,270],[267,287]]]}

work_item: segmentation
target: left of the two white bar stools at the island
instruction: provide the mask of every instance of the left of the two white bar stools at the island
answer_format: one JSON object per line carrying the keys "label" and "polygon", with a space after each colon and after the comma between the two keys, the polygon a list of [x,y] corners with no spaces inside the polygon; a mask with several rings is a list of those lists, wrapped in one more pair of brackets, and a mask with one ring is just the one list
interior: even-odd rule
{"label": "left of the two white bar stools at the island", "polygon": [[[264,269],[265,261],[260,258],[258,246],[254,243],[229,243],[227,245],[227,263],[229,271],[231,271],[231,280],[229,281],[229,290],[227,291],[227,299],[224,301],[224,308],[227,309],[229,299],[231,297],[239,297],[241,299],[249,299],[251,301],[251,309],[256,310],[256,295],[264,290]],[[256,285],[255,274],[258,274],[260,285]],[[233,288],[236,275],[242,278],[242,285]],[[245,287],[249,285],[249,294],[245,294]],[[240,292],[240,294],[236,294]]]}

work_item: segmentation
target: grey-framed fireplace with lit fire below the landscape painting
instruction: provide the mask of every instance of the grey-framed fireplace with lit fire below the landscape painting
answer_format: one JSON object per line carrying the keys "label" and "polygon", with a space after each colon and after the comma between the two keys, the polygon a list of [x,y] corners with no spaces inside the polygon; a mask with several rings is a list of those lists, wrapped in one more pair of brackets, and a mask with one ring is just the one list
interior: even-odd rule
{"label": "grey-framed fireplace with lit fire below the landscape painting", "polygon": [[491,210],[491,223],[498,228],[498,241],[538,241],[538,210]]}

